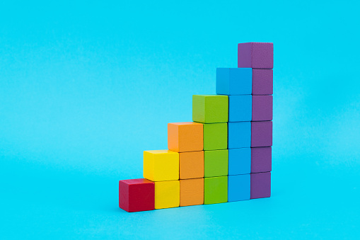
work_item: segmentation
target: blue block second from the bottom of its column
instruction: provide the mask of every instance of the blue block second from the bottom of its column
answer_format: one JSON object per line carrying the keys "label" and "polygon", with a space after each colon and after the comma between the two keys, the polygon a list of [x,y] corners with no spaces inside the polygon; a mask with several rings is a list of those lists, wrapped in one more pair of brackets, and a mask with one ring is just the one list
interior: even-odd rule
{"label": "blue block second from the bottom of its column", "polygon": [[250,174],[251,149],[228,149],[228,175]]}

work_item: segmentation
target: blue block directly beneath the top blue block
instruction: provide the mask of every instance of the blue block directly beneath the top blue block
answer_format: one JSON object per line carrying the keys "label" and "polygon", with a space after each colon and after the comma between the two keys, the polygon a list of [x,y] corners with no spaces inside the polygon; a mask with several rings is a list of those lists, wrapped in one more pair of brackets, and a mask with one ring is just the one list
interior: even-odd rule
{"label": "blue block directly beneath the top blue block", "polygon": [[252,96],[239,95],[228,96],[228,121],[243,122],[251,121],[252,118]]}

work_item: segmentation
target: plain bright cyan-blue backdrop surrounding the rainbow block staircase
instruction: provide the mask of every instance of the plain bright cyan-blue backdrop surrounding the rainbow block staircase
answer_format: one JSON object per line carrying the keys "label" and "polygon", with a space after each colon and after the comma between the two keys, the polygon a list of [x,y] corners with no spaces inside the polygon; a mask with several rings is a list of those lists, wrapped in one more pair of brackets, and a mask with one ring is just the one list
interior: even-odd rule
{"label": "plain bright cyan-blue backdrop surrounding the rainbow block staircase", "polygon": [[[358,1],[1,1],[1,239],[360,236]],[[129,214],[238,42],[274,42],[272,198]]]}

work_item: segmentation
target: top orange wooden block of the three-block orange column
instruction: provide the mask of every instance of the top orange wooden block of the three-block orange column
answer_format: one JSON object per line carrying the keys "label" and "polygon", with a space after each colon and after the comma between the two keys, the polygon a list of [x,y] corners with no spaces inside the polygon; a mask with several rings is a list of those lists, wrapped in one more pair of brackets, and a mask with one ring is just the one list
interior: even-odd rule
{"label": "top orange wooden block of the three-block orange column", "polygon": [[202,151],[203,127],[199,122],[168,123],[168,149],[174,152]]}

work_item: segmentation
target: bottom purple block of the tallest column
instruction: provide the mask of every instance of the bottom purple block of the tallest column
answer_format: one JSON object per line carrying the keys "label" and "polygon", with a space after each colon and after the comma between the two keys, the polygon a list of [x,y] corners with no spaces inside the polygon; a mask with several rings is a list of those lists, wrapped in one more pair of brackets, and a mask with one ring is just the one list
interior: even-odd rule
{"label": "bottom purple block of the tallest column", "polygon": [[271,173],[250,174],[250,199],[269,198],[271,195]]}

